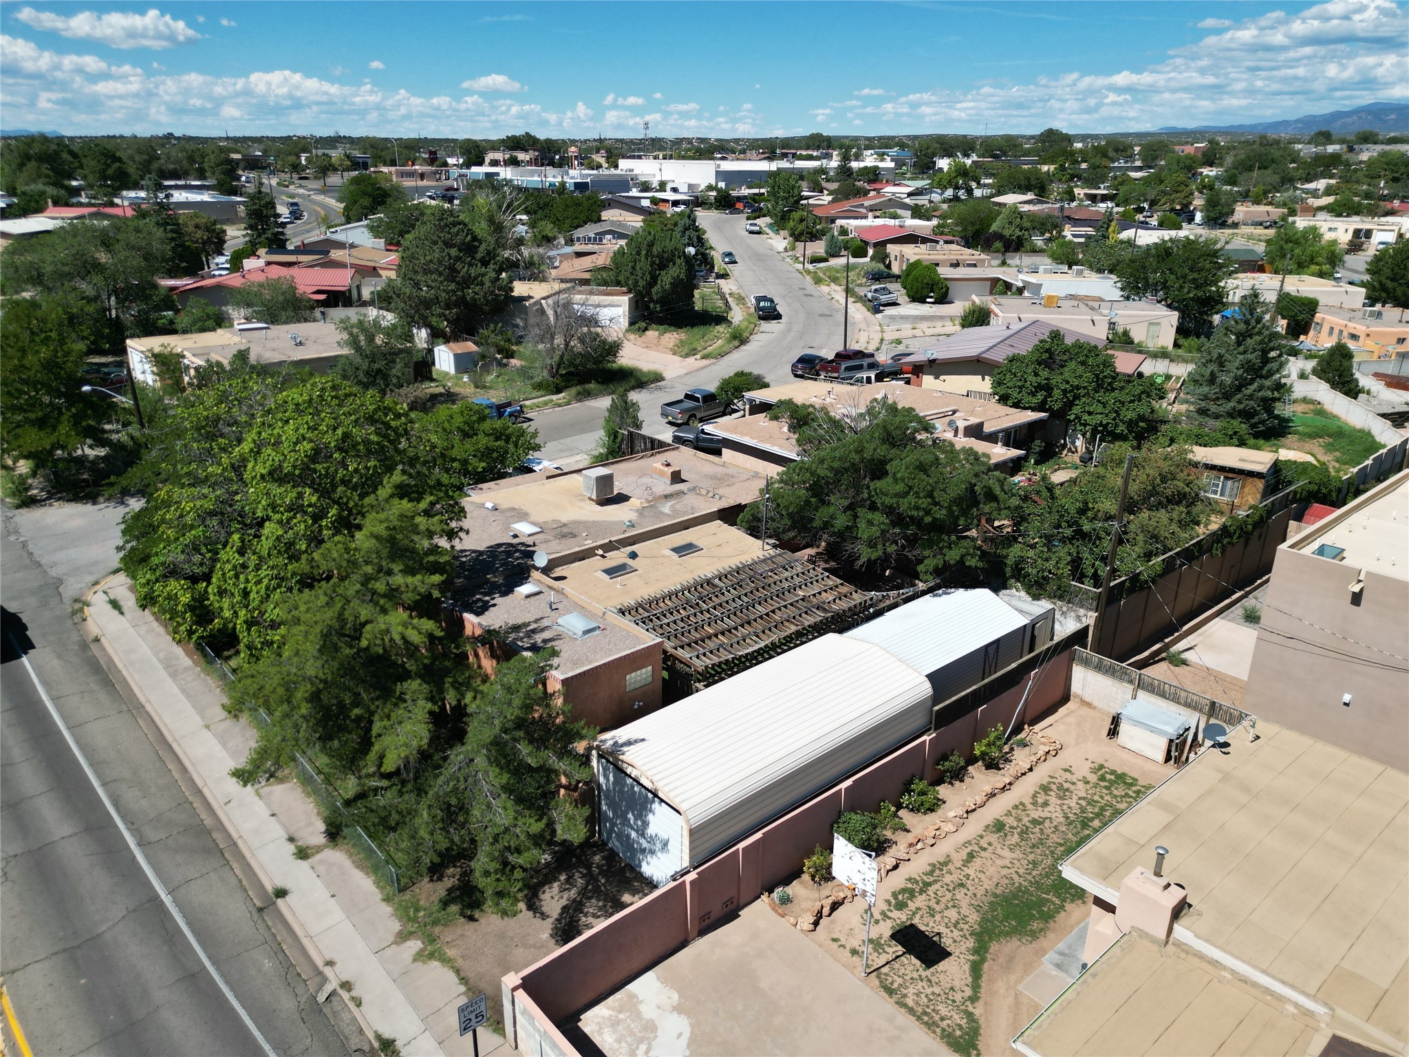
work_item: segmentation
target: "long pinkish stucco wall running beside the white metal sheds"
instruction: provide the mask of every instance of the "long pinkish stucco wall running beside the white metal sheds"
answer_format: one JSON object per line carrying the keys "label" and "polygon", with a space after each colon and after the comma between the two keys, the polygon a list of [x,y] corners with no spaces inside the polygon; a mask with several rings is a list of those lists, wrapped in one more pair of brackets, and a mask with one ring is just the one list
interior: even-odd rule
{"label": "long pinkish stucco wall running beside the white metal sheds", "polygon": [[[1043,668],[1017,727],[1067,698],[1072,654],[1058,654]],[[831,846],[831,824],[843,810],[875,810],[895,801],[914,774],[929,777],[943,753],[972,754],[975,733],[995,724],[1006,729],[1023,698],[1019,685],[944,730],[923,734],[819,793],[788,815],[672,881],[542,961],[503,979],[504,1037],[520,1053],[576,1057],[554,1022],[586,1008],[602,995],[689,943],[703,929],[790,878],[813,847]],[[566,1049],[562,1049],[566,1047]]]}

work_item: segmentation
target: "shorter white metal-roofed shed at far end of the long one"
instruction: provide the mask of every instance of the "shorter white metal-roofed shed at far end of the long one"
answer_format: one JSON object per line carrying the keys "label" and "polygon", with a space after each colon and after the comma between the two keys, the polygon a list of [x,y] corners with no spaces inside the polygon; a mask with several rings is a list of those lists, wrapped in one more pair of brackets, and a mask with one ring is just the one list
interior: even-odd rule
{"label": "shorter white metal-roofed shed at far end of the long one", "polygon": [[[1054,610],[1031,617],[992,591],[941,591],[892,609],[847,638],[874,643],[930,682],[934,703],[996,675],[1030,651],[1031,627]],[[1048,636],[1051,633],[1048,631]]]}

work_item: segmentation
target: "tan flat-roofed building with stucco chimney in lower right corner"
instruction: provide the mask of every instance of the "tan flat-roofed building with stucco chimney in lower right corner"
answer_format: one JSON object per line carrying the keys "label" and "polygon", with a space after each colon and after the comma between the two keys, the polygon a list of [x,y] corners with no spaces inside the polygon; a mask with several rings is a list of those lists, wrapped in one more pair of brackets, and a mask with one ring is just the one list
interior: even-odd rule
{"label": "tan flat-roofed building with stucco chimney in lower right corner", "polygon": [[1265,720],[1209,741],[1061,864],[1085,950],[1013,1047],[1405,1053],[1409,775]]}

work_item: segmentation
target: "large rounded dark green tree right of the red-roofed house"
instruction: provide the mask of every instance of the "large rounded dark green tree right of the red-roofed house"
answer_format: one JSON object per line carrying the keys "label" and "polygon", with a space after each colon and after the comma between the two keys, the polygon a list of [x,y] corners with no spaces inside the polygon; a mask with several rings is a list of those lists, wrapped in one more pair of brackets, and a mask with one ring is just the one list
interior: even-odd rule
{"label": "large rounded dark green tree right of the red-roofed house", "polygon": [[472,335],[513,293],[503,252],[455,210],[426,216],[406,237],[400,258],[382,300],[437,338]]}

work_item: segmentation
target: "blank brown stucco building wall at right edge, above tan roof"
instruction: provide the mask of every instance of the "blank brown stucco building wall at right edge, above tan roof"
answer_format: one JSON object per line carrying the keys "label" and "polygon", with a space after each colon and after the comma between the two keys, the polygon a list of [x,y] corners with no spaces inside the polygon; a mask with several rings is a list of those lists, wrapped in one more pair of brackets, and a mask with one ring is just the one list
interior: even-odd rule
{"label": "blank brown stucco building wall at right edge, above tan roof", "polygon": [[[1262,606],[1244,707],[1409,771],[1409,582],[1282,547]],[[1341,695],[1350,693],[1350,706]]]}

